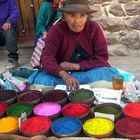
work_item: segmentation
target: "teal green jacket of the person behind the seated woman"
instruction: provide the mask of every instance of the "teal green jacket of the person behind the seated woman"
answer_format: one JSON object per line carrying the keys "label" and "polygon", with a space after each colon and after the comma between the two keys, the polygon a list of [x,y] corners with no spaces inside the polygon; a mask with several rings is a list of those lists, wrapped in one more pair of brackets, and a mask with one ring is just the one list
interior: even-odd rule
{"label": "teal green jacket of the person behind the seated woman", "polygon": [[[48,27],[48,22],[50,19],[50,10],[51,10],[51,3],[44,2],[40,10],[38,12],[37,22],[36,22],[36,35],[42,34],[46,31],[46,27]],[[59,19],[61,17],[61,12],[57,11],[55,19]]]}

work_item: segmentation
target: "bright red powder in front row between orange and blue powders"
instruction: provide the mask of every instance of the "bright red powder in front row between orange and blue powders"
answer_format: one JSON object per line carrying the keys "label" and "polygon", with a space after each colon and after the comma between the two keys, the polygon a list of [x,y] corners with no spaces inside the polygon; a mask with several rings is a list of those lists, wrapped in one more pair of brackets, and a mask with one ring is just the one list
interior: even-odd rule
{"label": "bright red powder in front row between orange and blue powders", "polygon": [[51,127],[51,120],[47,117],[32,117],[21,124],[21,130],[28,134],[40,134],[46,132]]}

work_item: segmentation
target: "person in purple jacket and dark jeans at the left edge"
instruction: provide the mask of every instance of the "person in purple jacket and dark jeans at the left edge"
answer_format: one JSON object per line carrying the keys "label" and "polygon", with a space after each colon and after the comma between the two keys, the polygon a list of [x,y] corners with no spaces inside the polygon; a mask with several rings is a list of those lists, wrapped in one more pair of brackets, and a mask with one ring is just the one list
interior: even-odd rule
{"label": "person in purple jacket and dark jeans at the left edge", "polygon": [[7,69],[18,65],[16,24],[19,9],[16,0],[0,0],[0,43],[4,42],[8,53]]}

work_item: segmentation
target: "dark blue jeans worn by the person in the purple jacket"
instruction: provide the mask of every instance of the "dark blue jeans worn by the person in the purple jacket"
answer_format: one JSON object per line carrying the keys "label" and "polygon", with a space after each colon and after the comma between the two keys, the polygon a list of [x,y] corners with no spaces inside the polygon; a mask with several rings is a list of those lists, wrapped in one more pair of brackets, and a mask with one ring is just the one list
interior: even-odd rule
{"label": "dark blue jeans worn by the person in the purple jacket", "polygon": [[14,27],[11,26],[7,31],[0,30],[0,43],[5,44],[9,60],[18,61],[17,33]]}

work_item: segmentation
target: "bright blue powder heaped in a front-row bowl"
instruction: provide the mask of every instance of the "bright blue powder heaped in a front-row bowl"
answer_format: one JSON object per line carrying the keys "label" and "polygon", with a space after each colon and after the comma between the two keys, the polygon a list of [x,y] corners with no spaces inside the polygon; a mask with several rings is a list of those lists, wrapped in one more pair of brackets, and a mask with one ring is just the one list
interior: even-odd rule
{"label": "bright blue powder heaped in a front-row bowl", "polygon": [[80,131],[82,122],[77,118],[64,117],[52,123],[52,131],[59,135],[70,135]]}

